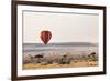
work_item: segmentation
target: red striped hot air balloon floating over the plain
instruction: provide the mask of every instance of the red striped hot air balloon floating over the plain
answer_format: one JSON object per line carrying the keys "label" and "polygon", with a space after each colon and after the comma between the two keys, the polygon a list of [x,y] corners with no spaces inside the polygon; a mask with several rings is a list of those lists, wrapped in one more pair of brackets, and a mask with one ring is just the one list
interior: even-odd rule
{"label": "red striped hot air balloon floating over the plain", "polygon": [[41,40],[44,42],[44,44],[47,44],[51,38],[52,38],[51,31],[44,30],[41,32]]}

